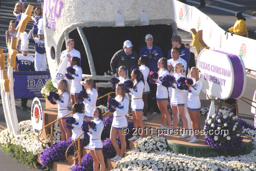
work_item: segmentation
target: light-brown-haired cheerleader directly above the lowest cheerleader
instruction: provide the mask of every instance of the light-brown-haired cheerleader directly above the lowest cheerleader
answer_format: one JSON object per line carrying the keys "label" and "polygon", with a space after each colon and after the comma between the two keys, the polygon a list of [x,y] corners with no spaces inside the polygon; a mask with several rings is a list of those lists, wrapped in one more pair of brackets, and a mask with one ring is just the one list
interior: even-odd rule
{"label": "light-brown-haired cheerleader directly above the lowest cheerleader", "polygon": [[88,98],[84,99],[84,117],[86,121],[93,120],[93,110],[96,108],[98,91],[93,85],[93,80],[87,78],[84,81],[84,88],[87,89]]}

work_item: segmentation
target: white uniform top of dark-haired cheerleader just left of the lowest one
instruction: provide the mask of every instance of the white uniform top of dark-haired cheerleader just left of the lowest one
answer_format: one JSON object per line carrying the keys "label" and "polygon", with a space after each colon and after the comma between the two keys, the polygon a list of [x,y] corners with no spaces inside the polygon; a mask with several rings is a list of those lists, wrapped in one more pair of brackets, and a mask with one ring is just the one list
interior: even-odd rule
{"label": "white uniform top of dark-haired cheerleader just left of the lowest one", "polygon": [[[79,135],[83,133],[81,127],[84,123],[84,116],[83,114],[77,112],[73,115],[73,118],[76,119],[76,123],[72,124],[72,126],[74,127],[72,129],[72,140],[76,140],[79,137]],[[84,134],[80,137],[80,139],[84,139]]]}

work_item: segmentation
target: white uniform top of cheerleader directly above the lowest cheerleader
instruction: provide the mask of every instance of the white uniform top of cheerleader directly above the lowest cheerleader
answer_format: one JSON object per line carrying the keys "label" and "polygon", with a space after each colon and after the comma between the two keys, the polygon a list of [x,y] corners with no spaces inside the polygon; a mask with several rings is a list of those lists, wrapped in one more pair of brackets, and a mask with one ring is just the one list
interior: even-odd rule
{"label": "white uniform top of cheerleader directly above the lowest cheerleader", "polygon": [[96,108],[96,101],[97,101],[97,97],[98,97],[98,91],[93,88],[93,90],[91,91],[91,89],[89,88],[89,90],[87,91],[88,94],[88,98],[84,99],[84,115],[85,116],[89,116],[89,117],[93,117],[93,110]]}

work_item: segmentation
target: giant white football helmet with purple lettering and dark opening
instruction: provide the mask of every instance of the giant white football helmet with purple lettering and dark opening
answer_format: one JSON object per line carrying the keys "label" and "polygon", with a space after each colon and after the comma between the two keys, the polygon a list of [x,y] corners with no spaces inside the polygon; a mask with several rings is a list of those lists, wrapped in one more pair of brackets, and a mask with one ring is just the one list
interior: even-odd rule
{"label": "giant white football helmet with purple lettering and dark opening", "polygon": [[[139,8],[135,8],[134,4],[150,11],[149,26],[142,26]],[[124,27],[116,27],[116,6],[122,7],[123,11],[119,12],[123,12]],[[113,54],[122,49],[125,40],[131,40],[134,46],[132,50],[139,53],[140,48],[145,46],[143,41],[146,34],[154,36],[154,43],[161,43],[161,38],[166,43],[172,37],[170,24],[174,21],[172,3],[169,0],[129,0],[115,3],[103,0],[45,0],[43,11],[44,37],[51,74],[58,68],[61,51],[66,49],[65,40],[68,38],[75,40],[75,49],[80,51],[83,74],[93,75],[95,72],[102,76],[110,68]],[[89,67],[88,64],[95,66],[94,71],[94,67]]]}

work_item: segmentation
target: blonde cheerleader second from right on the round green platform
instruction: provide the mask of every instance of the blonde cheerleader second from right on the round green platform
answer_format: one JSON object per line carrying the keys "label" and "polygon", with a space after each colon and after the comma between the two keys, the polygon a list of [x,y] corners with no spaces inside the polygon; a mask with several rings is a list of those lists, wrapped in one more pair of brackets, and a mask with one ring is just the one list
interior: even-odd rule
{"label": "blonde cheerleader second from right on the round green platform", "polygon": [[[180,77],[185,77],[184,73],[183,73],[183,66],[182,63],[176,63],[174,66],[174,77],[176,78],[176,81],[180,78]],[[174,86],[174,88],[172,89],[172,99],[171,99],[171,108],[172,108],[172,114],[173,114],[173,128],[177,129],[177,123],[178,123],[178,116],[177,116],[177,112],[180,113],[180,117],[183,123],[183,127],[185,129],[188,128],[188,121],[185,117],[185,109],[184,109],[184,105],[185,105],[185,99],[184,99],[184,95],[183,95],[183,90],[180,90],[177,88],[177,84],[173,83],[172,86]],[[187,138],[189,137],[189,134],[186,134],[186,132],[184,132],[180,138]]]}

